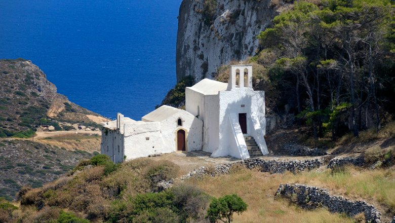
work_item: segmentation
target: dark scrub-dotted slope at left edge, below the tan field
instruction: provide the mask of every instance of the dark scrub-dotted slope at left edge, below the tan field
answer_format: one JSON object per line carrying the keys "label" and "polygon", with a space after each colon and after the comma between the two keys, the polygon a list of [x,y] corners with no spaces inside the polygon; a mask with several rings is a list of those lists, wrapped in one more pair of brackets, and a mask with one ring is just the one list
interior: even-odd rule
{"label": "dark scrub-dotted slope at left edge, below the tan field", "polygon": [[28,140],[0,139],[0,197],[16,198],[24,185],[32,188],[57,179],[71,170],[81,159],[92,157],[85,151]]}

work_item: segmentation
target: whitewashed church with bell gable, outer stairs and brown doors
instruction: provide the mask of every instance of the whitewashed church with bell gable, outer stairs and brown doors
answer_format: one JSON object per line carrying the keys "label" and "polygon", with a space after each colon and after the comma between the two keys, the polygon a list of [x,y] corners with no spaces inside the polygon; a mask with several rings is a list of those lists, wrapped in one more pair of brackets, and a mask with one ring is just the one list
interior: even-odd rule
{"label": "whitewashed church with bell gable, outer stairs and brown doors", "polygon": [[102,127],[101,154],[114,163],[200,151],[239,159],[267,155],[265,93],[252,88],[252,65],[232,65],[229,83],[204,79],[185,89],[185,110],[163,105],[135,121],[117,114]]}

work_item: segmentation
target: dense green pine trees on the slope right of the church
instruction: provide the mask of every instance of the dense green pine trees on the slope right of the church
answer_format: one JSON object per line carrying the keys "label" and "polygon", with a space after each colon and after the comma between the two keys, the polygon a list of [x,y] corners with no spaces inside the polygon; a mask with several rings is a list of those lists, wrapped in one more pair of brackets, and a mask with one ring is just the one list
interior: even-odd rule
{"label": "dense green pine trees on the slope right of the church", "polygon": [[[395,114],[393,21],[393,2],[381,0],[301,1],[276,16],[258,36],[262,50],[243,61],[267,114],[307,125],[314,139],[379,132]],[[219,67],[217,80],[228,73]]]}

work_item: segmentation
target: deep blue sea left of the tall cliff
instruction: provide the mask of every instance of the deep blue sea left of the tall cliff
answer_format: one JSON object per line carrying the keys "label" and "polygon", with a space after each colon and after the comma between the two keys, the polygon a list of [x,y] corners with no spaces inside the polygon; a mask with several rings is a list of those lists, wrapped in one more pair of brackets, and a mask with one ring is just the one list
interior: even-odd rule
{"label": "deep blue sea left of the tall cliff", "polygon": [[31,60],[70,101],[140,120],[176,83],[181,0],[0,0],[0,58]]}

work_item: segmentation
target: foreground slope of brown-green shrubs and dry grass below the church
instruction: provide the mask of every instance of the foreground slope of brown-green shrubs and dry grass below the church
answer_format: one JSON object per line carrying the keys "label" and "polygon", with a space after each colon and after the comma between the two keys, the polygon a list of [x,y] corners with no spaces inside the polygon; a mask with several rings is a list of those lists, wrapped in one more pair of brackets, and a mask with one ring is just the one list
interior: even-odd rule
{"label": "foreground slope of brown-green shrubs and dry grass below the church", "polygon": [[190,178],[164,190],[159,182],[180,176],[179,170],[167,160],[142,158],[115,165],[96,156],[41,188],[22,190],[14,203],[19,209],[10,211],[9,222],[49,222],[58,219],[62,210],[91,222],[208,222],[211,197],[233,193],[248,205],[247,211],[234,214],[234,222],[360,222],[358,217],[306,210],[275,198],[280,183],[305,183],[352,200],[367,200],[384,220],[395,213],[393,167],[272,175],[234,167],[226,175]]}

